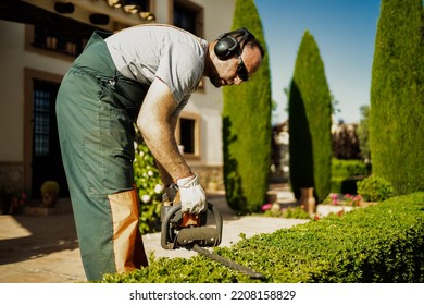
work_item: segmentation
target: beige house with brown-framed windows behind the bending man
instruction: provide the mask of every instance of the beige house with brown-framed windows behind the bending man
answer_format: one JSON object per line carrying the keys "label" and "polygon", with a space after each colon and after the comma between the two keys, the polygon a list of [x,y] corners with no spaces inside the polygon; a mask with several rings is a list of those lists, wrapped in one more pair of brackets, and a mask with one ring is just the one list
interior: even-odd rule
{"label": "beige house with brown-framed windows behind the bending man", "polygon": [[[55,180],[67,196],[55,94],[93,29],[163,23],[212,40],[230,28],[234,9],[235,0],[2,0],[0,192],[38,198],[42,182]],[[222,90],[203,80],[177,127],[184,155],[205,185],[222,179]]]}

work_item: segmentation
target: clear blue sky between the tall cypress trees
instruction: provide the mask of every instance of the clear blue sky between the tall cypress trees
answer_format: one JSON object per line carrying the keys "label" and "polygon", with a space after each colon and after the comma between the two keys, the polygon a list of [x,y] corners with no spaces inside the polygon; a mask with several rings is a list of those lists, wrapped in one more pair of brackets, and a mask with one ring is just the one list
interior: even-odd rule
{"label": "clear blue sky between the tall cypress trees", "polygon": [[359,122],[370,105],[379,0],[254,0],[262,20],[278,107],[273,123],[287,120],[287,97],[304,30],[314,37],[331,93],[338,100],[336,122]]}

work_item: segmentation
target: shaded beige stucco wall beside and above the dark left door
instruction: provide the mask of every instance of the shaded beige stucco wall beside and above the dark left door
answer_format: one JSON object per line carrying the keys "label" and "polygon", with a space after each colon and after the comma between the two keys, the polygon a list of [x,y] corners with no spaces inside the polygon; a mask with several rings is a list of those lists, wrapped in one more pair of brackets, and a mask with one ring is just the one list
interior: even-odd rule
{"label": "shaded beige stucco wall beside and above the dark left door", "polygon": [[0,161],[23,161],[25,69],[63,75],[70,61],[26,52],[25,25],[0,20]]}

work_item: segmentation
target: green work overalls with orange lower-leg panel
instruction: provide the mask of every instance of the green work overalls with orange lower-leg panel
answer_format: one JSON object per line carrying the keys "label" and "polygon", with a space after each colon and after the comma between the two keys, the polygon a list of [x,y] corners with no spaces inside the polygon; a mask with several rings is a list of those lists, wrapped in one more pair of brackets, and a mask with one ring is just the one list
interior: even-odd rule
{"label": "green work overalls with orange lower-leg panel", "polygon": [[133,186],[134,121],[148,86],[117,72],[96,32],[57,98],[61,151],[87,279],[147,266]]}

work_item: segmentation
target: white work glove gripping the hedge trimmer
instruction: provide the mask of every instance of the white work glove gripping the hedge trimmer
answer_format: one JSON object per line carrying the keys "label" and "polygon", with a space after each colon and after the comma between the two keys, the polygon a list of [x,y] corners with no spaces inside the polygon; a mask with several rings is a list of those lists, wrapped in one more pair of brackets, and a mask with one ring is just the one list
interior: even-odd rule
{"label": "white work glove gripping the hedge trimmer", "polygon": [[207,195],[197,174],[177,180],[182,212],[200,213],[208,208]]}

